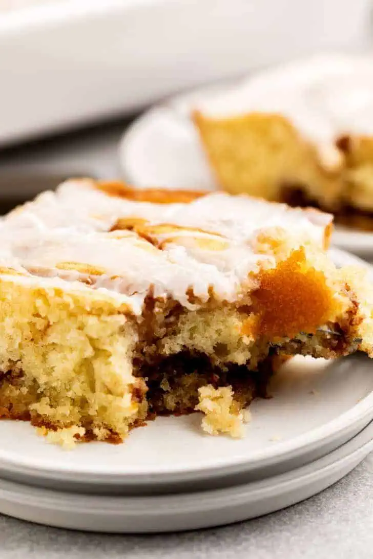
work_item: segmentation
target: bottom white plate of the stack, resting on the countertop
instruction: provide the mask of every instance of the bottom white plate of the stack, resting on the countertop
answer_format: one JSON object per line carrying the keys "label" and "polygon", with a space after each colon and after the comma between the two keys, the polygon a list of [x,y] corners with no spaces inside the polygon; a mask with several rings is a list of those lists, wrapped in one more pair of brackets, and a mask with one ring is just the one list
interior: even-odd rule
{"label": "bottom white plate of the stack, resting on the countertop", "polygon": [[373,424],[336,451],[282,475],[225,489],[121,497],[79,495],[0,481],[0,512],[60,528],[95,532],[173,532],[271,513],[322,491],[373,450]]}

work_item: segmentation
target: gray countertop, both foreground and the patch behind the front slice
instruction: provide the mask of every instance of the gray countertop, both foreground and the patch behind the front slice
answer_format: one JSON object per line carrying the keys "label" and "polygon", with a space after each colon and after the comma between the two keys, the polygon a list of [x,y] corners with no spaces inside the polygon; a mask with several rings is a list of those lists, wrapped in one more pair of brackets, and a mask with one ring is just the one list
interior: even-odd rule
{"label": "gray countertop, both foreground and the patch behind the front slice", "polygon": [[[119,174],[126,121],[0,151],[0,199],[33,196],[23,176]],[[40,184],[43,181],[40,181]],[[43,183],[44,184],[44,183]],[[49,186],[49,185],[48,185]],[[288,509],[224,528],[158,536],[84,534],[0,515],[0,559],[364,559],[373,557],[373,455],[342,481]]]}

